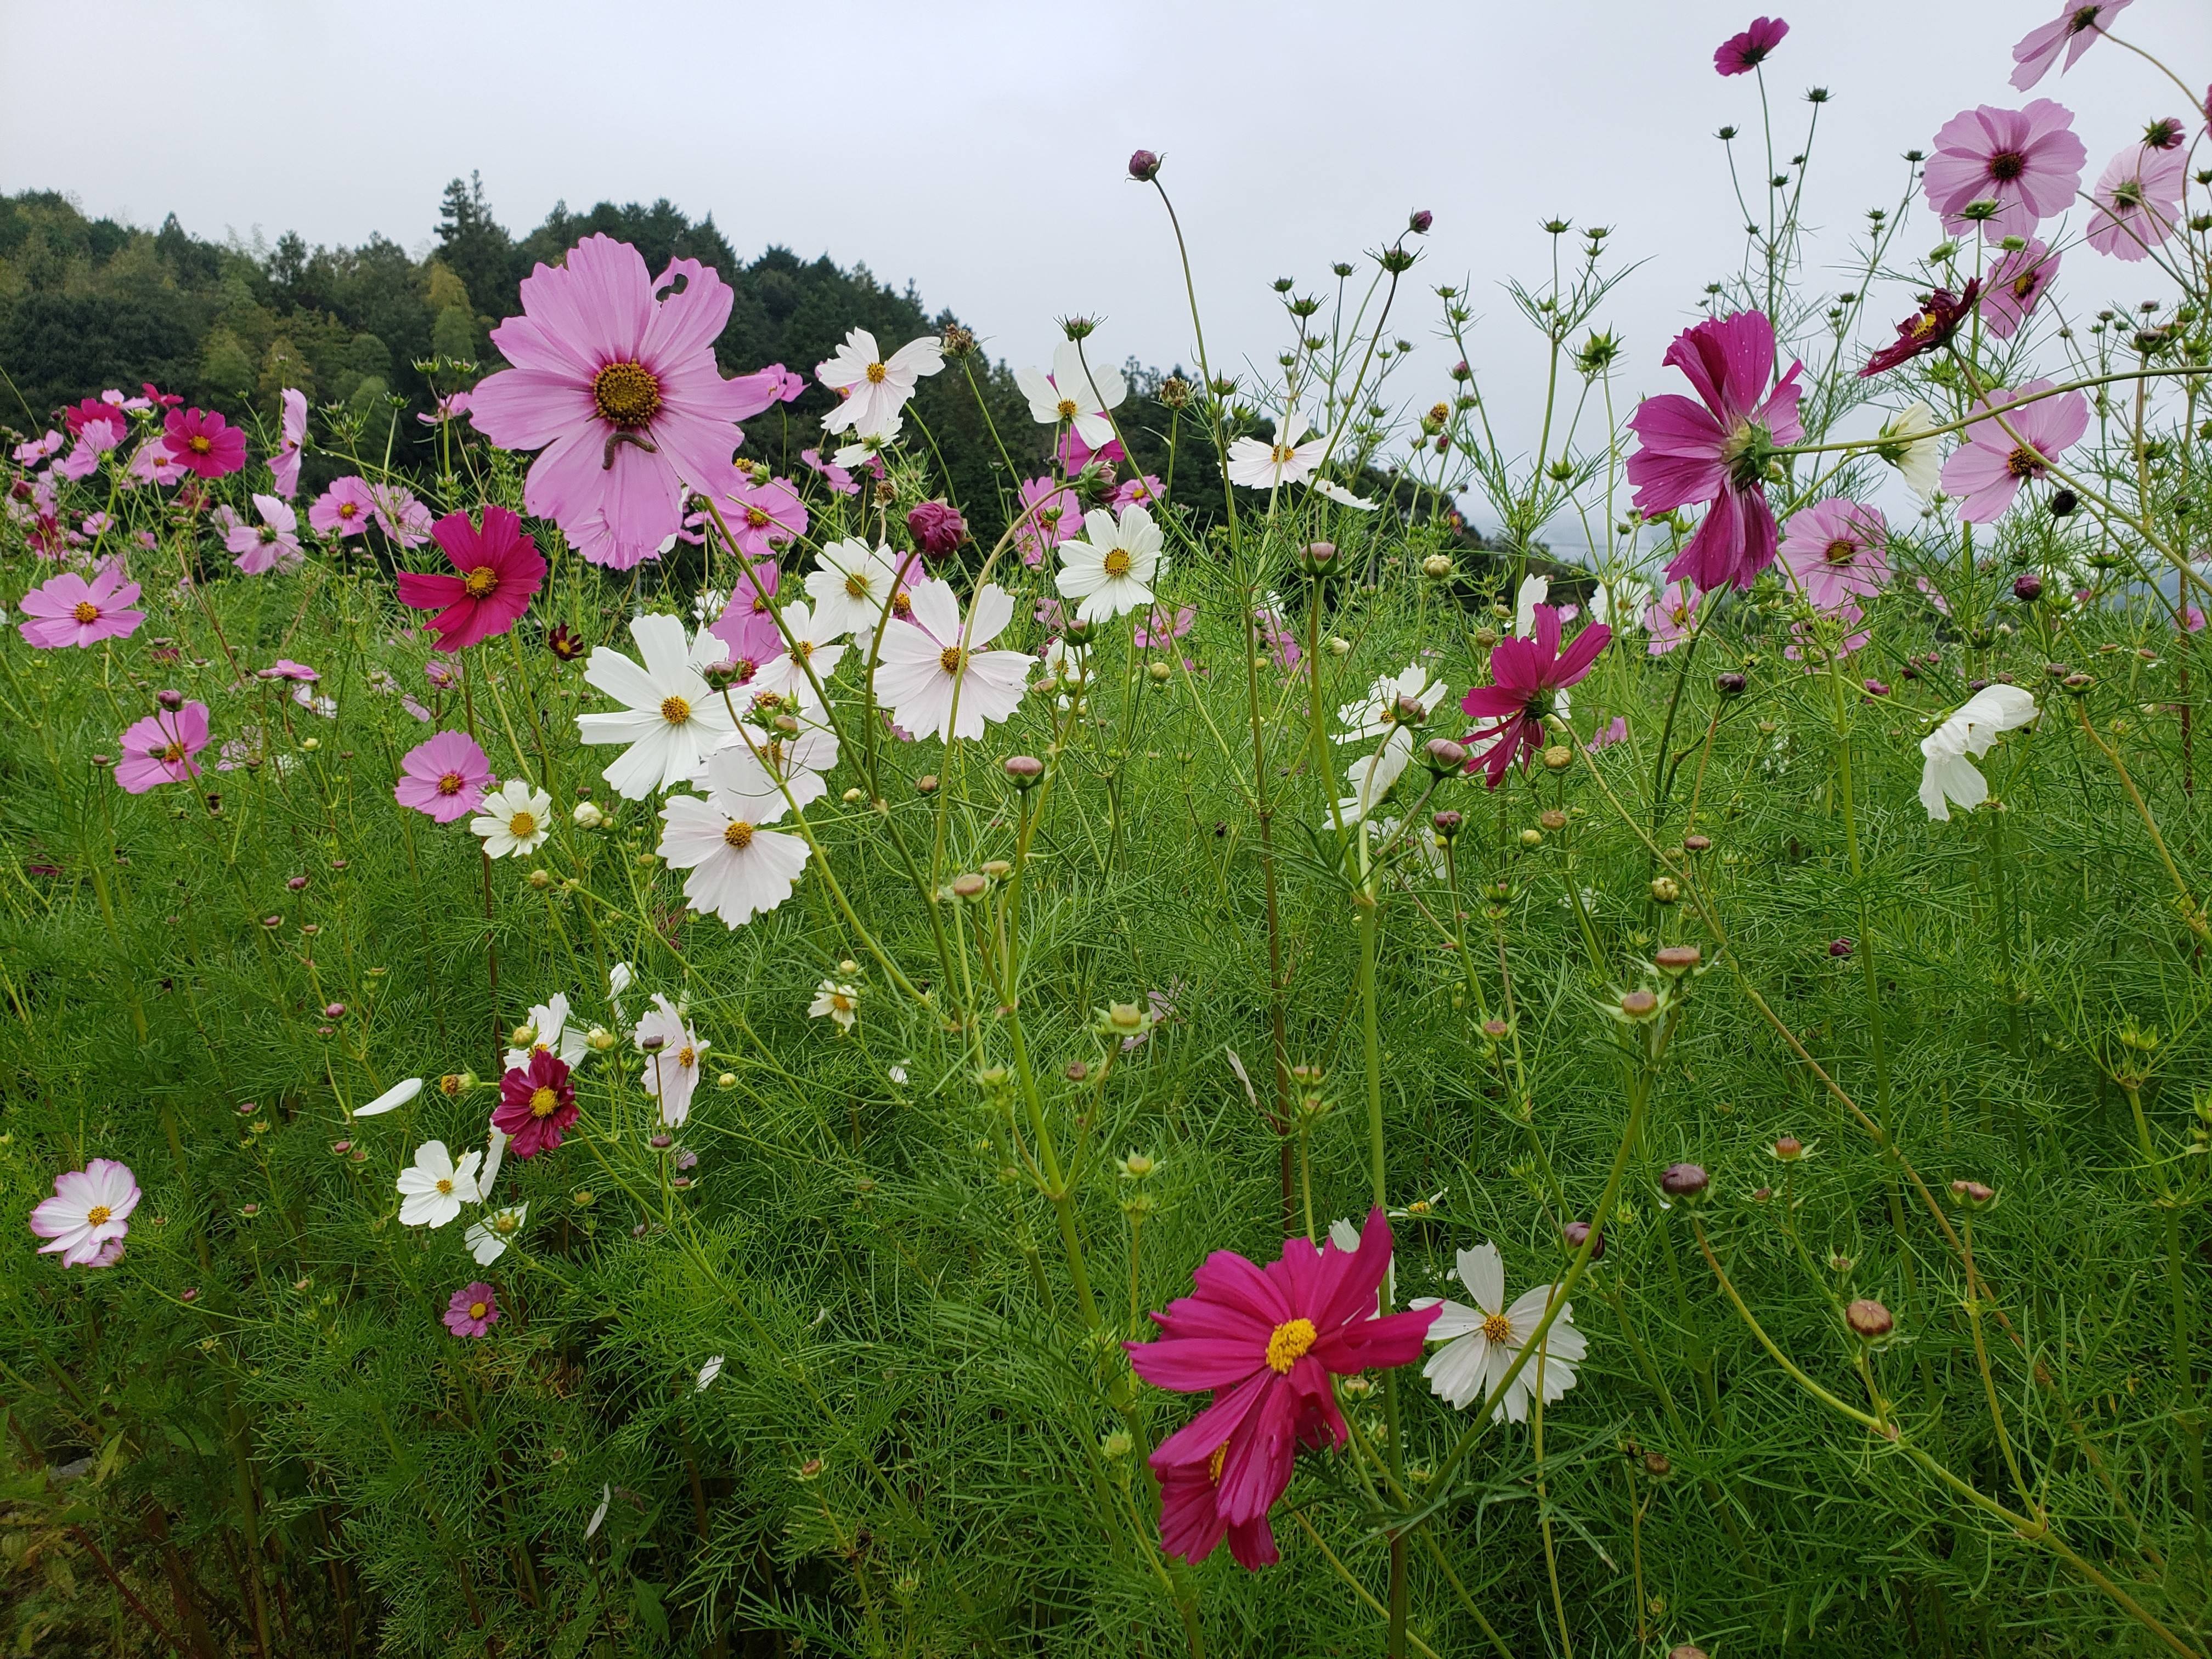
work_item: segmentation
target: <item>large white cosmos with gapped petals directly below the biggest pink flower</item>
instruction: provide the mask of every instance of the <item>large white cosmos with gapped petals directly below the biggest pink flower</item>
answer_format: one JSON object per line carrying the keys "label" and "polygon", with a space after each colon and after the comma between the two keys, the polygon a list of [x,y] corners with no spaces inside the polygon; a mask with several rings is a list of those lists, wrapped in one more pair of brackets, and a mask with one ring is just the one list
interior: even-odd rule
{"label": "large white cosmos with gapped petals directly below the biggest pink flower", "polygon": [[577,714],[586,743],[628,743],[602,776],[628,801],[688,781],[699,761],[730,741],[730,710],[706,684],[701,668],[730,657],[730,646],[706,628],[684,633],[679,617],[637,617],[630,639],[646,659],[639,668],[613,646],[597,646],[584,664],[586,684],[624,703],[619,714]]}

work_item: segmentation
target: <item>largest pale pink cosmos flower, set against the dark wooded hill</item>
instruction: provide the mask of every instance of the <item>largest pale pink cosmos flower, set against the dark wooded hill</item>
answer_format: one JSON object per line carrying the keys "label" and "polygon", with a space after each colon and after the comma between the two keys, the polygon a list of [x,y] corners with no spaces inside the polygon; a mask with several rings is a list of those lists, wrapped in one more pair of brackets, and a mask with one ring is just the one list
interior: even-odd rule
{"label": "largest pale pink cosmos flower, set against the dark wooded hill", "polygon": [[[681,281],[681,292],[675,283]],[[714,338],[734,294],[697,259],[655,281],[626,241],[588,237],[522,281],[522,316],[491,330],[511,369],[469,418],[502,449],[542,449],[522,504],[593,564],[628,571],[684,526],[684,489],[719,491],[737,422],[783,394],[781,374],[723,380]]]}

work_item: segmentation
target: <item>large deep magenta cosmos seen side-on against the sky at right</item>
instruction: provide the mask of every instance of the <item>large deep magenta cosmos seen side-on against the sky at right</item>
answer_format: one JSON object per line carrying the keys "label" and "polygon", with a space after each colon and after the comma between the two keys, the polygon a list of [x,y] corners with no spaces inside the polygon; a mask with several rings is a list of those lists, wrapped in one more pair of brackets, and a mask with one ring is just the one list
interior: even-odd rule
{"label": "large deep magenta cosmos seen side-on against the sky at right", "polygon": [[1690,502],[1710,502],[1690,544],[1668,564],[1668,577],[1699,588],[1752,586],[1774,562],[1774,511],[1763,476],[1774,445],[1805,436],[1798,422],[1803,363],[1781,385],[1774,374],[1774,325],[1761,312],[1736,312],[1683,330],[1666,349],[1699,396],[1670,392],[1646,398],[1628,416],[1641,449],[1628,458],[1637,509],[1650,518]]}

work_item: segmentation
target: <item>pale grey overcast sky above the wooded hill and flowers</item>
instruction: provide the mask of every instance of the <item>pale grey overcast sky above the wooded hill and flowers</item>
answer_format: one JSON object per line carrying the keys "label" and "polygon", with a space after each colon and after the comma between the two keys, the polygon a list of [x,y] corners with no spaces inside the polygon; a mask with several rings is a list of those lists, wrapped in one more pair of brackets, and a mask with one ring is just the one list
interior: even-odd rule
{"label": "pale grey overcast sky above the wooded hill and flowers", "polygon": [[[2057,97],[2088,177],[2146,122],[2185,115],[2112,42],[2013,93],[2011,44],[2055,13],[1785,2],[1767,62],[1783,159],[1805,88],[1832,93],[1807,186],[1823,254],[1896,206],[1902,150],[1960,108]],[[445,181],[471,168],[518,232],[557,199],[666,195],[712,212],[741,257],[783,243],[914,279],[1015,365],[1048,361],[1071,312],[1106,319],[1108,356],[1166,365],[1190,358],[1190,321],[1159,204],[1124,179],[1148,146],[1168,157],[1217,369],[1281,349],[1270,279],[1318,288],[1429,208],[1396,330],[1431,341],[1429,288],[1469,283],[1493,407],[1533,416],[1540,361],[1498,285],[1542,274],[1544,219],[1613,226],[1615,252],[1646,261],[1608,312],[1630,389],[1663,383],[1666,341],[1739,259],[1714,131],[1756,135],[1759,100],[1752,77],[1712,73],[1712,49],[1750,15],[1739,0],[0,0],[0,190],[64,190],[144,226],[175,212],[204,237],[383,232],[418,252]],[[2192,86],[2212,77],[2205,0],[2139,0],[2117,33]],[[1922,215],[1902,248],[1933,241]],[[2150,292],[2143,268],[2084,252],[2081,299],[2093,265],[2104,299]],[[1429,403],[1453,356],[1431,345],[1396,389]]]}

